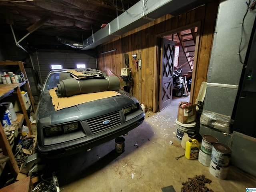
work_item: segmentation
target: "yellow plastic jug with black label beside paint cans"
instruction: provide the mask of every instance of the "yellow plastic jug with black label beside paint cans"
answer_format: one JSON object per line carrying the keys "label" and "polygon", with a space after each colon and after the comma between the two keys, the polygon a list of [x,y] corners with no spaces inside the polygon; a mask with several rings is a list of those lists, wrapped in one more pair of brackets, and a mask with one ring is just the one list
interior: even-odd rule
{"label": "yellow plastic jug with black label beside paint cans", "polygon": [[185,157],[188,160],[196,159],[199,155],[199,142],[196,139],[190,139],[186,142]]}

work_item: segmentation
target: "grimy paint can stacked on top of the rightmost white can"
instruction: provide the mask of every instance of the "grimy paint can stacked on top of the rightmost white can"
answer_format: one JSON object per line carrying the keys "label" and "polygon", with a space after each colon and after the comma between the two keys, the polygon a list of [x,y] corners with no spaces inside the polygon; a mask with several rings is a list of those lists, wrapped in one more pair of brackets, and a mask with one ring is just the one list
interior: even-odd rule
{"label": "grimy paint can stacked on top of the rightmost white can", "polygon": [[228,167],[231,149],[225,144],[214,143],[212,146],[211,161],[219,167]]}

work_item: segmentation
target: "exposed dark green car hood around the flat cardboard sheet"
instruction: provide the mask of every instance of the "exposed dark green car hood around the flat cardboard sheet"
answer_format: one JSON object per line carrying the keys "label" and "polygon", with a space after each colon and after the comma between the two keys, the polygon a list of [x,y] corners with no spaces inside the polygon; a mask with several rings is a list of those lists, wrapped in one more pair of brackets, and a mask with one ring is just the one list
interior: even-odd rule
{"label": "exposed dark green car hood around the flat cardboard sheet", "polygon": [[36,112],[38,124],[40,124],[40,127],[44,127],[76,120],[84,121],[101,116],[102,114],[109,114],[111,112],[122,110],[122,108],[138,102],[136,98],[123,90],[118,90],[116,92],[120,93],[120,95],[94,100],[55,111],[49,91],[44,91],[40,95]]}

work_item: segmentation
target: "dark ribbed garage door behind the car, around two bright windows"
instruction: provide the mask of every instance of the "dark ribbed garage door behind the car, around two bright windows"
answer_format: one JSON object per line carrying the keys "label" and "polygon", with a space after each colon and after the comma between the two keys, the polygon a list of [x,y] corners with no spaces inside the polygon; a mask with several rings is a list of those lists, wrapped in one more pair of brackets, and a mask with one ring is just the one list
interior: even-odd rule
{"label": "dark ribbed garage door behind the car, around two bright windows", "polygon": [[95,56],[66,52],[37,52],[31,55],[34,69],[37,71],[40,83],[51,69],[51,65],[62,65],[63,69],[76,68],[76,64],[85,64],[87,68],[96,68]]}

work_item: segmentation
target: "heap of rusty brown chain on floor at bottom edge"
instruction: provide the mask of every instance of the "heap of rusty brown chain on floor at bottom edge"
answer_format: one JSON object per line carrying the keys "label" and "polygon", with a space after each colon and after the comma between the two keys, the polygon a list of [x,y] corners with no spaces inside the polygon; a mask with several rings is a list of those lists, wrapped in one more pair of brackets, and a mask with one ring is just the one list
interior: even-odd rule
{"label": "heap of rusty brown chain on floor at bottom edge", "polygon": [[183,182],[181,192],[214,192],[205,186],[206,183],[211,183],[212,180],[206,178],[204,175],[200,175],[194,178],[188,178],[187,182]]}

